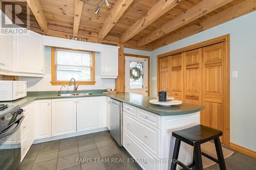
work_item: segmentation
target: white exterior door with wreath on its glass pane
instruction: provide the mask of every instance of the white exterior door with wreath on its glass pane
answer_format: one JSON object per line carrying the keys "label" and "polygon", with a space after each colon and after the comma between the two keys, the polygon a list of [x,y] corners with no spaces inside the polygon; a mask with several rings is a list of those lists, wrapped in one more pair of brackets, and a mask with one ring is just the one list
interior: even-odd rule
{"label": "white exterior door with wreath on its glass pane", "polygon": [[148,59],[125,56],[125,92],[148,95]]}

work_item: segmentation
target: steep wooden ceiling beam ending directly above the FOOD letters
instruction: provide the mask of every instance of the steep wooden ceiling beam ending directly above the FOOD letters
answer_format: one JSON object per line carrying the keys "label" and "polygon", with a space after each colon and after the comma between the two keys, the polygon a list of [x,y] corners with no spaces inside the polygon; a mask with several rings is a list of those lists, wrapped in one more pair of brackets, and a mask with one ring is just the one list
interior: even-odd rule
{"label": "steep wooden ceiling beam ending directly above the FOOD letters", "polygon": [[75,0],[73,36],[77,36],[82,16],[83,0]]}

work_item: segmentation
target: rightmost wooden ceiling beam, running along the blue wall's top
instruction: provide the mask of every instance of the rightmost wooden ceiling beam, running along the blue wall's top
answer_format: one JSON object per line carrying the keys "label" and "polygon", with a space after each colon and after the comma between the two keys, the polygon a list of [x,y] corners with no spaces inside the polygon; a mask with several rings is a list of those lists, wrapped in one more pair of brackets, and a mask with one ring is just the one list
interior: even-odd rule
{"label": "rightmost wooden ceiling beam, running along the blue wall's top", "polygon": [[198,25],[193,25],[187,27],[175,34],[169,35],[153,43],[153,50],[162,47],[164,45],[179,41],[191,35],[197,34],[204,30],[210,29],[212,27],[218,26],[224,22],[238,18],[242,15],[248,14],[250,12],[256,11],[256,1],[246,0],[236,6],[233,6],[225,11],[222,11],[208,19],[205,19],[198,23]]}

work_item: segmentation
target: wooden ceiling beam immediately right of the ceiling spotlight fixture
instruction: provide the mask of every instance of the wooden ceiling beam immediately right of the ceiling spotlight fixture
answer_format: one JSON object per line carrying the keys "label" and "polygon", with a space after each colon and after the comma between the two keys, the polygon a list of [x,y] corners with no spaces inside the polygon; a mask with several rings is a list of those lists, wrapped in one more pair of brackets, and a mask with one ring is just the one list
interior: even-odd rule
{"label": "wooden ceiling beam immediately right of the ceiling spotlight fixture", "polygon": [[101,41],[114,27],[119,18],[123,15],[126,9],[132,4],[133,0],[119,0],[106,18],[102,28],[99,30],[98,40]]}

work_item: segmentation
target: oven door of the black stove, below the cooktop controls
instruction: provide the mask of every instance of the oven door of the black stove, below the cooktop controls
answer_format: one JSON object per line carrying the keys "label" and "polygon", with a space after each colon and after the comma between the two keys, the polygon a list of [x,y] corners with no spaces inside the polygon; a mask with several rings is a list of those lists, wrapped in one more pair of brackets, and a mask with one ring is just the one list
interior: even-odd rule
{"label": "oven door of the black stove, below the cooktop controls", "polygon": [[0,169],[17,170],[20,164],[21,145],[18,129],[24,116],[0,133]]}

